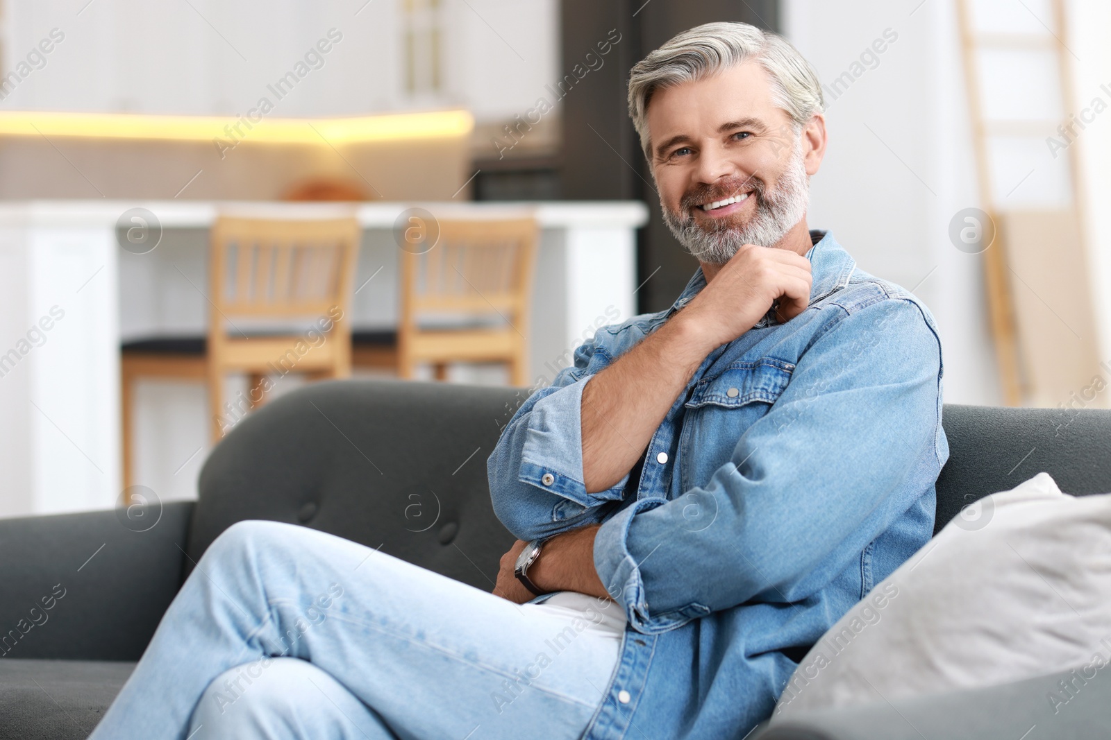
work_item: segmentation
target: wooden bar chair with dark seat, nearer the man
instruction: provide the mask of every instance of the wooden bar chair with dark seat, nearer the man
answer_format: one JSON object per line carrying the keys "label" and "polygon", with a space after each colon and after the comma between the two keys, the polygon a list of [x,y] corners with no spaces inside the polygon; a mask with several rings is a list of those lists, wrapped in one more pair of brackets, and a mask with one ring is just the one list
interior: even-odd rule
{"label": "wooden bar chair with dark seat, nearer the man", "polygon": [[[538,233],[529,217],[440,222],[432,249],[401,251],[396,338],[388,333],[358,336],[353,364],[390,367],[410,378],[419,363],[431,363],[442,381],[449,363],[501,362],[513,385],[528,385],[526,337]],[[430,325],[436,318],[440,325]],[[459,325],[444,325],[444,320]],[[471,324],[462,323],[467,321]]]}

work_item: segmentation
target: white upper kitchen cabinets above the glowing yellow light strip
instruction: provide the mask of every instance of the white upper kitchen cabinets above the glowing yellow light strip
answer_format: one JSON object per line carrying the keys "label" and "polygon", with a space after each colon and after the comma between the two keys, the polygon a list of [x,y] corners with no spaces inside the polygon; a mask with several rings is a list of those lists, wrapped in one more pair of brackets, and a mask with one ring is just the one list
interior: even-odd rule
{"label": "white upper kitchen cabinets above the glowing yellow light strip", "polygon": [[500,120],[557,77],[557,0],[442,0],[446,84],[419,98],[403,85],[401,0],[84,1],[3,1],[4,72],[51,29],[64,40],[0,110],[233,116],[331,28],[342,40],[276,115],[464,107]]}

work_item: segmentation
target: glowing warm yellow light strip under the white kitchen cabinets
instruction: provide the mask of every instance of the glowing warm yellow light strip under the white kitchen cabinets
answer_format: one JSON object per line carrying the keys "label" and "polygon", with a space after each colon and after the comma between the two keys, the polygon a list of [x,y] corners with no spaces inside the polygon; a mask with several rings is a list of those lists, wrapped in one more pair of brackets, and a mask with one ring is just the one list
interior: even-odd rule
{"label": "glowing warm yellow light strip under the white kitchen cabinets", "polygon": [[261,116],[257,122],[248,118],[202,115],[0,111],[0,136],[177,141],[216,141],[219,138],[229,143],[241,140],[278,144],[349,144],[467,136],[473,128],[474,119],[467,111],[393,113],[346,119]]}

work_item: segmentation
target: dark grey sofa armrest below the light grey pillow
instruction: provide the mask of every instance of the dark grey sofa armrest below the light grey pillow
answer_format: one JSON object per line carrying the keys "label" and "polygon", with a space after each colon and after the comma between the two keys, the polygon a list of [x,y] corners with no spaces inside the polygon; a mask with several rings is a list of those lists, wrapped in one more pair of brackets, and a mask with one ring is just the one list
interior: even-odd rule
{"label": "dark grey sofa armrest below the light grey pillow", "polygon": [[753,740],[1103,738],[1109,724],[1111,668],[1092,665],[984,689],[799,712],[765,726]]}

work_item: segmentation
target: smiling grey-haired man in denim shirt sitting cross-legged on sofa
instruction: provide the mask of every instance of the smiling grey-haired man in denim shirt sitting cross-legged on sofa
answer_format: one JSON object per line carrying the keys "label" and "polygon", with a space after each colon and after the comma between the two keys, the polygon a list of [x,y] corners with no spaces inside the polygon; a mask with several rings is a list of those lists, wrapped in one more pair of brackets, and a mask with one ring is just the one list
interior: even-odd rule
{"label": "smiling grey-haired man in denim shirt sitting cross-legged on sofa", "polygon": [[240,523],[93,738],[742,738],[929,539],[940,345],[913,296],[808,231],[813,70],[711,23],[637,64],[629,103],[700,267],[507,425],[488,472],[520,539],[497,596]]}

